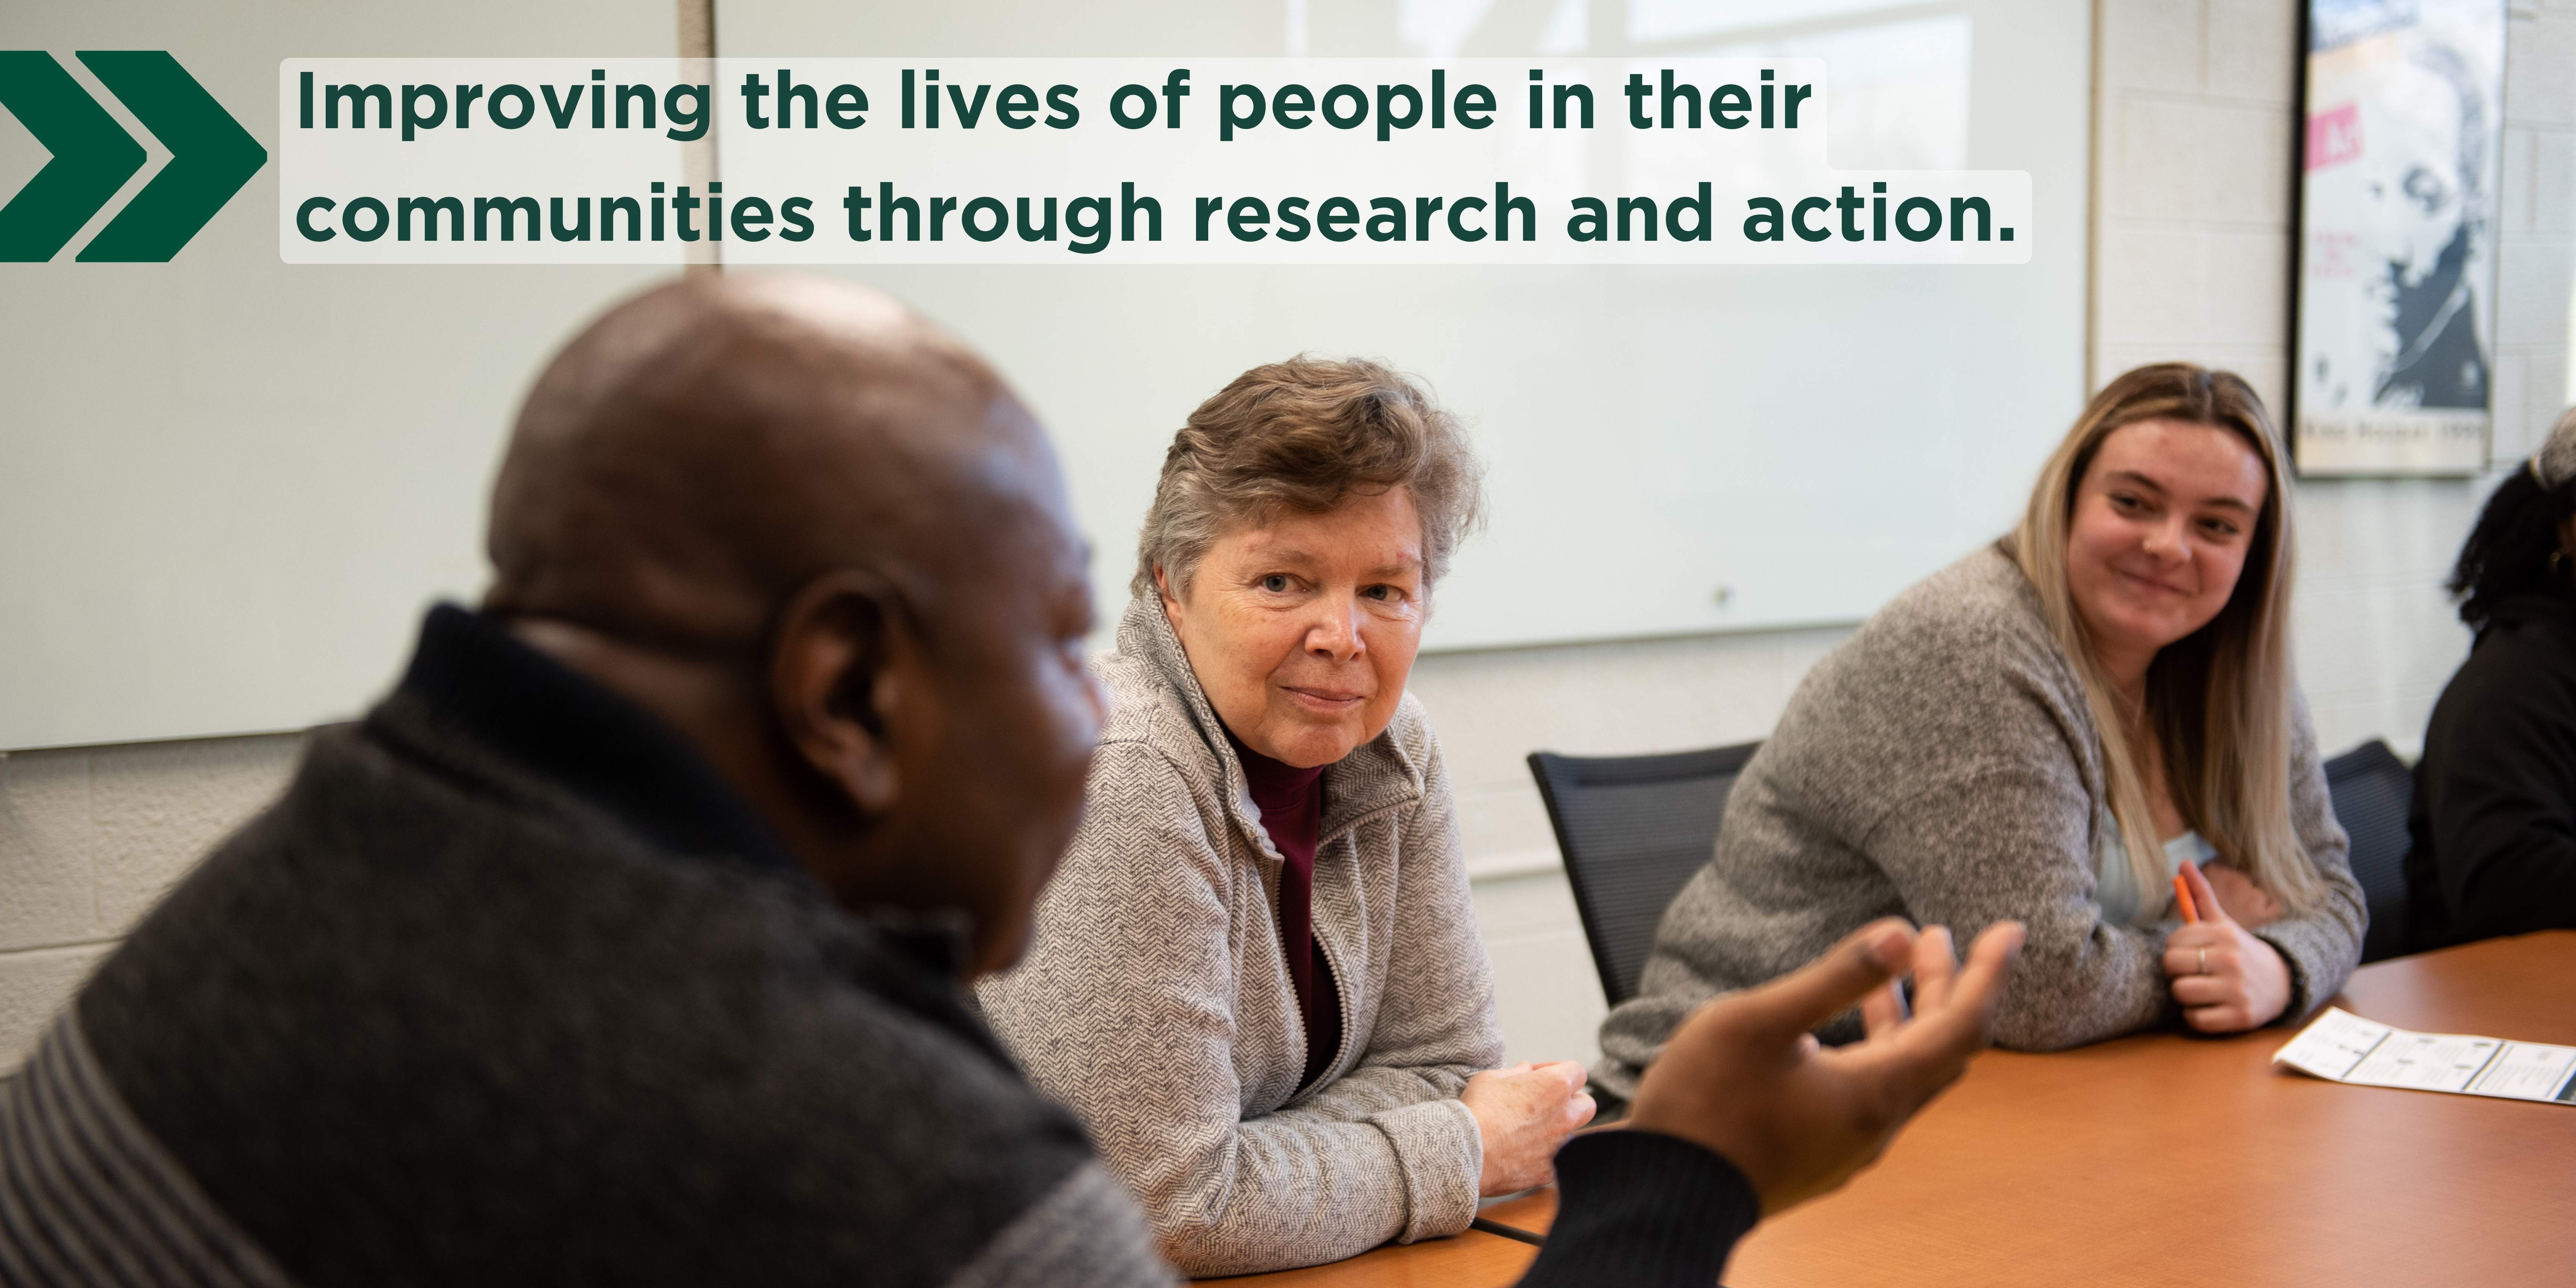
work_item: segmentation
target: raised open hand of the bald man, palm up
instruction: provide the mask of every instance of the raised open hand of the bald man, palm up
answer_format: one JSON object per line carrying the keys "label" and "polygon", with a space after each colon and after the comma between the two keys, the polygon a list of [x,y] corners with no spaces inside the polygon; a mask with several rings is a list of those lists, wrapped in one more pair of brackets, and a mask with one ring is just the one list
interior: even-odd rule
{"label": "raised open hand of the bald man, palm up", "polygon": [[[1976,938],[1965,971],[1950,933],[1870,922],[1803,971],[1718,997],[1682,1020],[1638,1082],[1628,1126],[1734,1162],[1777,1216],[1868,1167],[1896,1128],[1968,1069],[1994,1033],[2022,925]],[[1896,976],[1914,974],[1914,1018]],[[1824,1051],[1811,1028],[1862,1002],[1868,1041]]]}

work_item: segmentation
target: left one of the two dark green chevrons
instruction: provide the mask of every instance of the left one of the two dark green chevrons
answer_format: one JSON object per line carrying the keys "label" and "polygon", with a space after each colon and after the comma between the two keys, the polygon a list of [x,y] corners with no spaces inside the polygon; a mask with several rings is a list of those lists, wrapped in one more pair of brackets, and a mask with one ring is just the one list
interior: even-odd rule
{"label": "left one of the two dark green chevrons", "polygon": [[0,108],[54,155],[0,206],[0,260],[52,260],[144,167],[144,144],[54,54],[0,49]]}

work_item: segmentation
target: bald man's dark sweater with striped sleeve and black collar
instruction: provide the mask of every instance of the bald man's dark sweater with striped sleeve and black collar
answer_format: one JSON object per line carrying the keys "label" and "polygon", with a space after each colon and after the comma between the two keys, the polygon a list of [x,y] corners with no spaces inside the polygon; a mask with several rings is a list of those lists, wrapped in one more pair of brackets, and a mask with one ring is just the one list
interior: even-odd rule
{"label": "bald man's dark sweater with striped sleeve and black collar", "polygon": [[[832,907],[675,732],[433,611],[0,1084],[0,1283],[1170,1283],[956,945]],[[1528,1285],[1705,1285],[1759,1213],[1669,1136],[1558,1170]]]}

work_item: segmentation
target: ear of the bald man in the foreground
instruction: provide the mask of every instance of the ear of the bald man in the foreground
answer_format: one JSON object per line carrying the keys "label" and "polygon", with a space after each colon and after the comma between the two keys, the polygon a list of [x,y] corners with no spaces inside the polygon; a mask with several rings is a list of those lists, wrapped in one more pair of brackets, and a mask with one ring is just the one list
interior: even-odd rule
{"label": "ear of the bald man in the foreground", "polygon": [[796,755],[860,814],[902,796],[889,726],[902,719],[902,657],[917,657],[891,585],[858,569],[827,572],[778,616],[770,701]]}

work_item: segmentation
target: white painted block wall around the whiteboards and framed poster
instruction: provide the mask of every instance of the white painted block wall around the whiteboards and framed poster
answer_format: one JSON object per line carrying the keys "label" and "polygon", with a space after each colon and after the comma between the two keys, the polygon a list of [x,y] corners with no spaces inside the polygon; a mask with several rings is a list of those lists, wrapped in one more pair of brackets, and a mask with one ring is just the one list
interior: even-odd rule
{"label": "white painted block wall around the whiteboards and framed poster", "polygon": [[[2094,384],[2192,358],[2287,379],[2295,0],[2099,0]],[[2517,3],[2504,152],[2496,459],[2566,399],[2576,0]],[[2494,479],[2300,489],[2300,675],[2334,750],[2421,739],[2465,649],[2439,580]],[[1515,1059],[1592,1059],[1600,987],[1522,755],[1762,737],[1847,631],[1427,657]],[[291,770],[299,739],[0,757],[0,1069],[152,896]]]}

